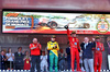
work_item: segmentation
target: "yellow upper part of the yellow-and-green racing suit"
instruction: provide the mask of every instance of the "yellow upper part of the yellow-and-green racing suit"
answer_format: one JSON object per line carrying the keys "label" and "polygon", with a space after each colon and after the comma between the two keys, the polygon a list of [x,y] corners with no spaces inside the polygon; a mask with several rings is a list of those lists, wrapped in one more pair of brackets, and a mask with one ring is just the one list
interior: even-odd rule
{"label": "yellow upper part of the yellow-and-green racing suit", "polygon": [[[57,46],[57,48],[53,49],[54,46]],[[58,53],[57,53],[57,50],[59,50],[58,43],[57,41],[48,41],[47,50],[53,51],[58,57]]]}

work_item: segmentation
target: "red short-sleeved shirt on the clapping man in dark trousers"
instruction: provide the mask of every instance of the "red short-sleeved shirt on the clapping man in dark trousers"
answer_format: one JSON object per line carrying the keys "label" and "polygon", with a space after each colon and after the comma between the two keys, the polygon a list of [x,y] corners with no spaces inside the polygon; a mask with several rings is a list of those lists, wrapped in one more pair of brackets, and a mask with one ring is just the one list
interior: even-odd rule
{"label": "red short-sleeved shirt on the clapping man in dark trousers", "polygon": [[[31,56],[40,56],[41,55],[41,44],[38,44],[40,47],[36,47],[37,44],[30,44],[30,50],[31,50]],[[36,47],[35,49],[31,49],[33,47]]]}

